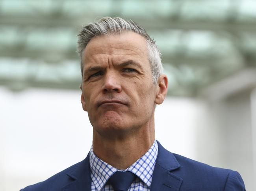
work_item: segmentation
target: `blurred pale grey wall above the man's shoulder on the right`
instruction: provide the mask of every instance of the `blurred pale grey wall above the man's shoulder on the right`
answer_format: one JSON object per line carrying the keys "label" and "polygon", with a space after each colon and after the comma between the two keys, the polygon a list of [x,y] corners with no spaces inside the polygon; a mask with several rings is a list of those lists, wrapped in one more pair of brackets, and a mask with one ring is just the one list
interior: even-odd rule
{"label": "blurred pale grey wall above the man's shoulder on the right", "polygon": [[197,129],[198,160],[238,171],[248,191],[254,189],[251,91],[206,102]]}

